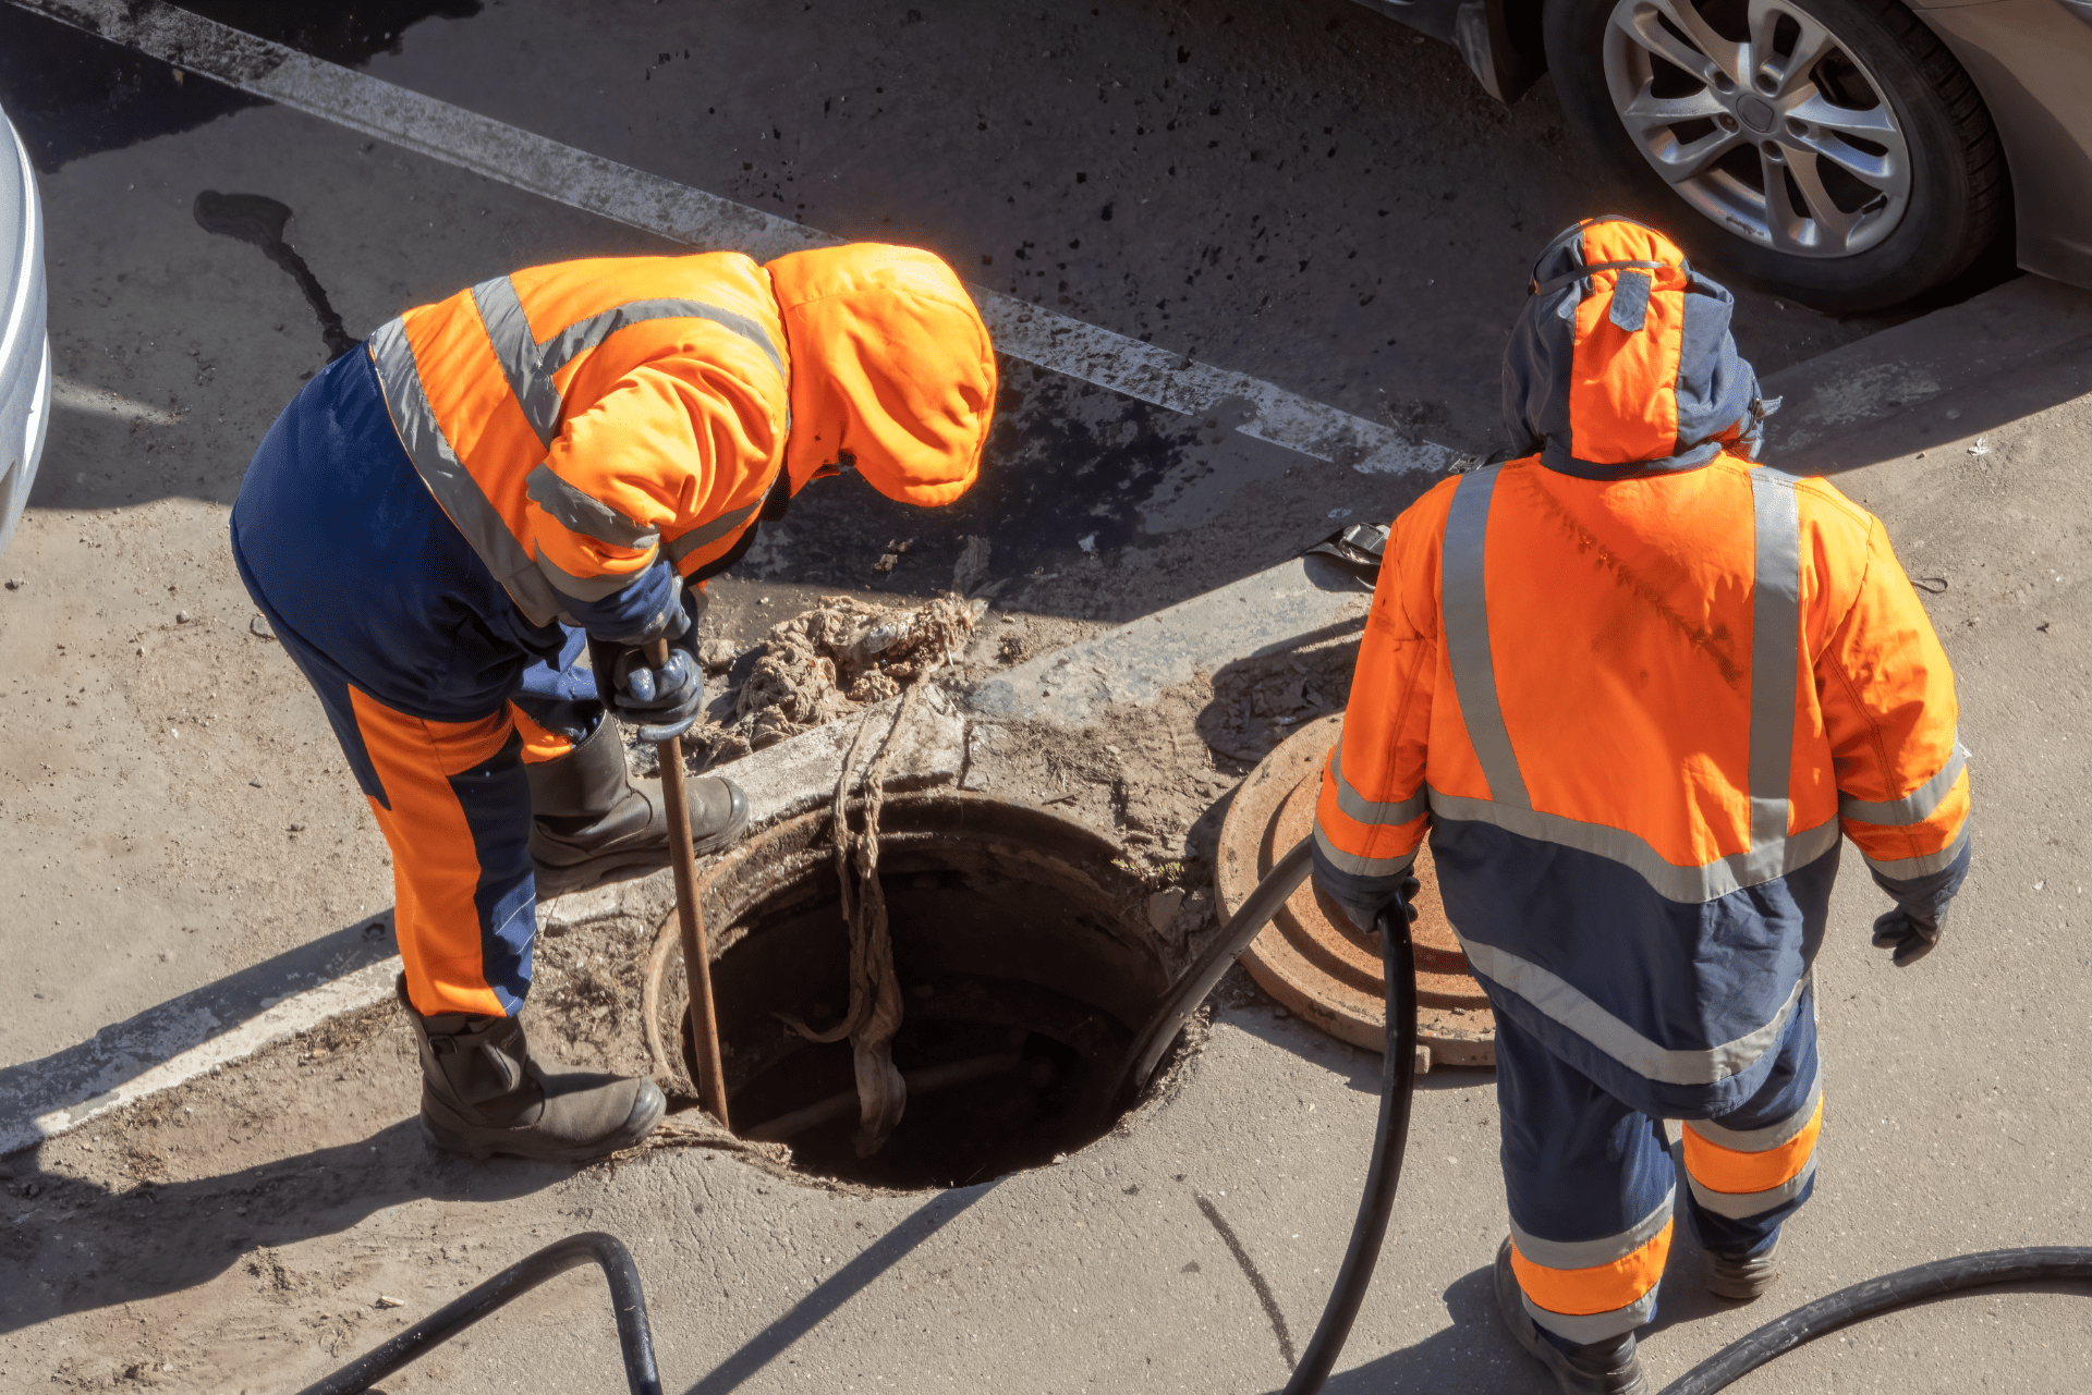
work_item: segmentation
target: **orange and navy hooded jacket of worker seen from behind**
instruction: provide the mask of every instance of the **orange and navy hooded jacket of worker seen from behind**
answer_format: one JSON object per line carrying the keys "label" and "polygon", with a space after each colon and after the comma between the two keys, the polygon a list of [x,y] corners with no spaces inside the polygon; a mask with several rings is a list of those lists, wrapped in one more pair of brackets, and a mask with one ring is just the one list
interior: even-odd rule
{"label": "orange and navy hooded jacket of worker seen from behind", "polygon": [[[1705,389],[1678,326],[1707,293],[1655,234],[1602,230],[1554,293],[1571,312],[1529,301],[1538,333],[1573,337],[1552,358],[1567,391],[1521,385],[1546,404],[1523,416],[1542,450],[1395,521],[1318,868],[1391,887],[1429,830],[1496,1008],[1630,1104],[1709,1117],[1749,1098],[1801,1002],[1839,834],[1891,895],[1943,899],[1969,774],[1954,673],[1881,523],[1749,460],[1755,381],[1709,448],[1676,433],[1657,399]],[[1655,284],[1617,293],[1632,274]],[[1609,318],[1617,299],[1636,310]],[[1632,343],[1665,320],[1667,345]],[[1588,385],[1609,397],[1579,402]],[[1623,441],[1607,420],[1628,404],[1665,422]]]}

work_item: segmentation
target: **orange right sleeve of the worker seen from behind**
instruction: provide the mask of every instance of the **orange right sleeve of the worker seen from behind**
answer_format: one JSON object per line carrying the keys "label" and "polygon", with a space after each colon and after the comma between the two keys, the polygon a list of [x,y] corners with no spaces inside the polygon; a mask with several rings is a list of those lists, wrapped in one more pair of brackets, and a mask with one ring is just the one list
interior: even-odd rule
{"label": "orange right sleeve of the worker seen from behind", "polygon": [[1954,669],[1879,521],[1845,619],[1816,661],[1839,822],[1874,883],[1937,914],[1969,872],[1969,753]]}

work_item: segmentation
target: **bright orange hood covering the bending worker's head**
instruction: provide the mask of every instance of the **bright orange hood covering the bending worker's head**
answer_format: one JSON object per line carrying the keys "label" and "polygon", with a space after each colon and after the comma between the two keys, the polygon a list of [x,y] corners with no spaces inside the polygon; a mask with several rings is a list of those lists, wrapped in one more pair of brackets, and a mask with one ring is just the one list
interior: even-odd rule
{"label": "bright orange hood covering the bending worker's head", "polygon": [[849,243],[764,270],[791,351],[793,491],[847,454],[904,504],[964,494],[996,410],[996,353],[952,268],[914,247]]}

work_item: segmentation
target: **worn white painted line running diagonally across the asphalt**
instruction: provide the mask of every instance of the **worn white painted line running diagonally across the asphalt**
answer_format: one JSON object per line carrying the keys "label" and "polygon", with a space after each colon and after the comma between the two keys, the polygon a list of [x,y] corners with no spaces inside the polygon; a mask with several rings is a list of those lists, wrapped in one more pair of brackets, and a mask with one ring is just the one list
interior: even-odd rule
{"label": "worn white painted line running diagonally across the asphalt", "polygon": [[[734,249],[764,261],[839,241],[774,213],[322,63],[161,0],[10,2],[241,92],[678,243]],[[1027,364],[1172,412],[1211,414],[1243,435],[1366,475],[1441,471],[1458,460],[1446,445],[1412,441],[1389,427],[1245,372],[1201,364],[985,287],[973,287],[973,295],[996,347]]]}

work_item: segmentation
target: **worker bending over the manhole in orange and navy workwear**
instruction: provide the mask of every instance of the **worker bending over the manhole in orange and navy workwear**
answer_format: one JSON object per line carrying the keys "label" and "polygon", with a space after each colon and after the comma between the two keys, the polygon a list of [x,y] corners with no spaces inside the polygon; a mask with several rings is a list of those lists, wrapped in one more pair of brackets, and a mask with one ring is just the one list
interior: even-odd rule
{"label": "worker bending over the manhole in orange and navy workwear", "polygon": [[[757,521],[843,468],[956,500],[994,399],[952,270],[849,245],[498,276],[379,328],[270,429],[232,552],[391,847],[435,1146],[584,1161],[661,1119],[649,1079],[540,1069],[519,1019],[538,897],[667,864],[659,782],[605,711],[686,730],[701,586]],[[699,853],[738,837],[730,780],[688,788]]]}

